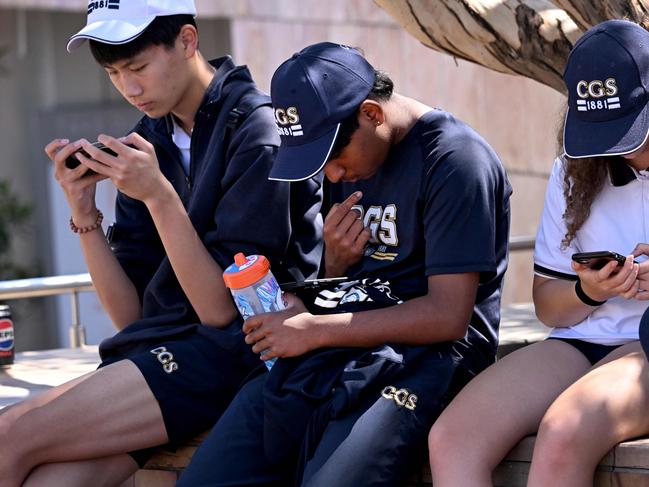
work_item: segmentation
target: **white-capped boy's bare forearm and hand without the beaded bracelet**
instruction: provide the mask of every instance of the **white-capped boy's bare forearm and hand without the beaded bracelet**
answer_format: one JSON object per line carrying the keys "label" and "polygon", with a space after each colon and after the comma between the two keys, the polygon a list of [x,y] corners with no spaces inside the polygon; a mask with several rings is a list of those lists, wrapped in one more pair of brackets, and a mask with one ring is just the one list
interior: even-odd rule
{"label": "white-capped boy's bare forearm and hand without the beaded bracelet", "polygon": [[223,283],[222,269],[196,233],[173,186],[160,172],[153,146],[135,133],[121,141],[99,138],[117,157],[84,145],[93,159],[81,161],[147,206],[176,278],[201,322],[217,327],[229,324],[236,310]]}

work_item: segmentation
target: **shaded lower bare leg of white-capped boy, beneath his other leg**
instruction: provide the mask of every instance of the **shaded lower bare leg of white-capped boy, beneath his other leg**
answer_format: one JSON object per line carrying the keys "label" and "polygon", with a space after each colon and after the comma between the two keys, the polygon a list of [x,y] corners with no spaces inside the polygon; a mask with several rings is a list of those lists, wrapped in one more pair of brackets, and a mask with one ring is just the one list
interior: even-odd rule
{"label": "shaded lower bare leg of white-capped boy, beneath his other leg", "polygon": [[22,487],[133,487],[133,480],[130,485],[124,482],[133,479],[137,469],[137,463],[125,453],[79,462],[46,463],[32,470]]}

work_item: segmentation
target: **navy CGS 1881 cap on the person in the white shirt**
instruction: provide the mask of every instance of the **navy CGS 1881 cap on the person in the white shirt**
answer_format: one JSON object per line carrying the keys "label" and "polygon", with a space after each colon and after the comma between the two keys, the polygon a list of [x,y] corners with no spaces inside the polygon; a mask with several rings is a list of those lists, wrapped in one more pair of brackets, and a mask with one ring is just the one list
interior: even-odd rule
{"label": "navy CGS 1881 cap on the person in the white shirt", "polygon": [[642,147],[649,134],[649,32],[626,20],[592,27],[572,49],[563,79],[566,155],[614,156]]}

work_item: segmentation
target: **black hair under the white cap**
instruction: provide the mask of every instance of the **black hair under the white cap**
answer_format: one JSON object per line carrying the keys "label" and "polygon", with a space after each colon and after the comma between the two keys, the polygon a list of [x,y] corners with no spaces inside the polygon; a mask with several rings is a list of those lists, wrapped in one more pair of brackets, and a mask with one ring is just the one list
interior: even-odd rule
{"label": "black hair under the white cap", "polygon": [[171,49],[176,42],[183,25],[196,27],[192,15],[164,15],[156,17],[144,32],[126,44],[106,44],[90,40],[90,52],[100,65],[113,64],[116,61],[137,56],[150,46],[164,46]]}

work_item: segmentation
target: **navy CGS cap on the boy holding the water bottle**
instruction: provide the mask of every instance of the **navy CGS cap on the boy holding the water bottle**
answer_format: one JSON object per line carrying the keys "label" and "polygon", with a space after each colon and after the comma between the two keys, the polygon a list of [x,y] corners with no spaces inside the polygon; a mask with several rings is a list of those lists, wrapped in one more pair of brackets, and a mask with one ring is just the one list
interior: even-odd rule
{"label": "navy CGS cap on the boy holding the water bottle", "polygon": [[321,42],[284,61],[270,83],[282,144],[270,171],[275,181],[301,181],[324,167],[340,122],[374,84],[374,68],[356,49]]}

